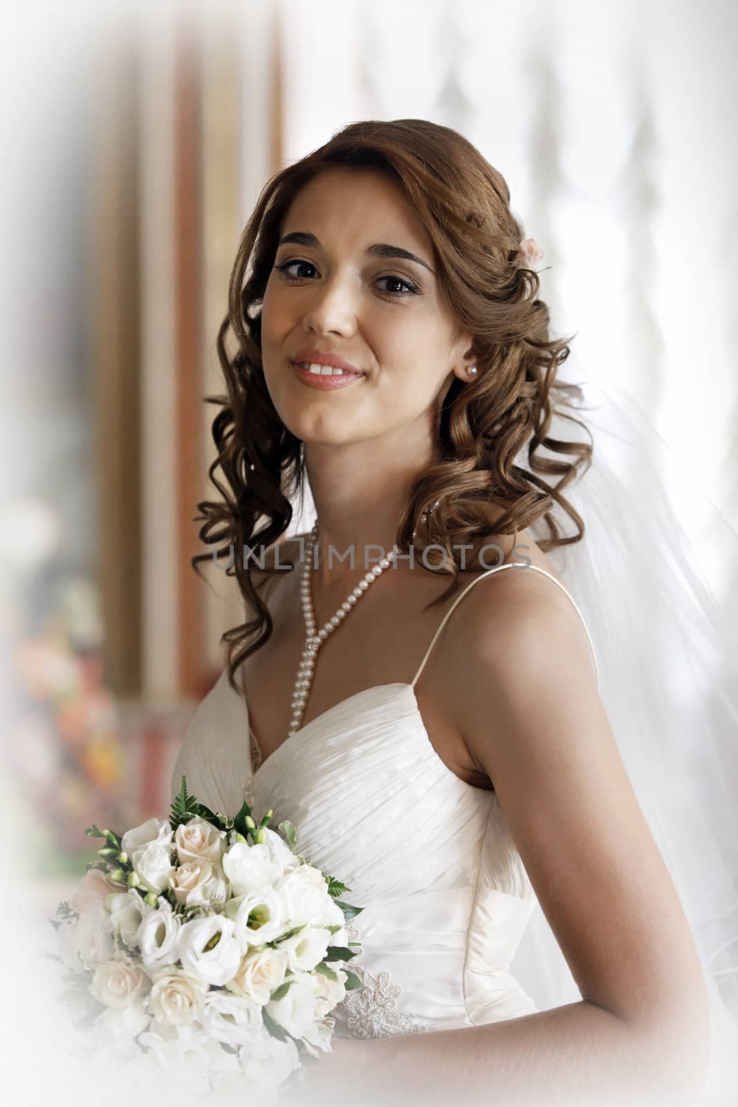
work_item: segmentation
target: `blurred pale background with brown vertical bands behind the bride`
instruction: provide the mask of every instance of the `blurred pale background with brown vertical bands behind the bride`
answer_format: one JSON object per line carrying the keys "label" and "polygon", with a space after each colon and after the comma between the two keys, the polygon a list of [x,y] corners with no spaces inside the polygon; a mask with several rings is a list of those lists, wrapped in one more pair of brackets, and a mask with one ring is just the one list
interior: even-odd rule
{"label": "blurred pale background with brown vertical bands behind the bride", "polygon": [[[481,149],[578,368],[656,426],[684,501],[698,488],[738,529],[731,0],[29,0],[1,18],[3,807],[50,907],[93,820],[167,813],[241,621],[232,581],[190,568],[216,334],[260,189],[343,124],[426,117]],[[693,521],[738,615],[738,567]]]}

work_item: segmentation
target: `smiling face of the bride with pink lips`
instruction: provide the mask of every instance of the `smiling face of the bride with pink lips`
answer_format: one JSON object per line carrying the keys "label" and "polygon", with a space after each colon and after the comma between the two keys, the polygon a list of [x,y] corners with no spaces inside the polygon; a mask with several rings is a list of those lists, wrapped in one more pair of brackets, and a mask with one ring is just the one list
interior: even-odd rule
{"label": "smiling face of the bride with pink lips", "polygon": [[[380,170],[331,167],[303,186],[284,215],[261,314],[267,387],[298,438],[430,443],[451,374],[468,380],[474,362],[435,268],[415,209]],[[360,375],[295,368],[330,355]]]}

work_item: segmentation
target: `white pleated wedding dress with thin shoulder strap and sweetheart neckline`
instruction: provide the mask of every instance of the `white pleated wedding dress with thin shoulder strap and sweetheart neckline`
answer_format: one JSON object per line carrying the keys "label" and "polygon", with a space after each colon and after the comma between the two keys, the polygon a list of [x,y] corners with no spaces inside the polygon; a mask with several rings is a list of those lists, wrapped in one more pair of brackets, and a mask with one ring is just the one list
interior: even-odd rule
{"label": "white pleated wedding dress with thin shoulder strap and sweetheart neckline", "polygon": [[[505,570],[543,573],[582,618],[547,570],[501,565],[457,597],[412,683],[349,696],[259,764],[248,707],[224,672],[179,749],[173,795],[184,774],[188,792],[212,810],[232,815],[245,798],[257,818],[272,808],[272,824],[290,819],[299,852],[346,883],[344,898],[364,908],[350,924],[362,943],[352,969],[363,987],[336,1010],[340,1036],[478,1026],[539,1010],[510,970],[536,892],[497,796],[441,761],[415,696],[457,607],[474,602],[468,593]],[[596,675],[593,646],[592,658]]]}

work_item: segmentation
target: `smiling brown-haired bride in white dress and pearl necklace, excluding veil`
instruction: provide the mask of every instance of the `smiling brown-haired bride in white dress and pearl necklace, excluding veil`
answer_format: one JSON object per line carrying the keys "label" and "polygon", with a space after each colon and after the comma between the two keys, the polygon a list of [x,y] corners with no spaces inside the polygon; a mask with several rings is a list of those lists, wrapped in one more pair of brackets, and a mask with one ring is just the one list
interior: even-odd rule
{"label": "smiling brown-haired bride in white dress and pearl necklace, excluding veil", "polygon": [[[532,248],[459,134],[360,122],[266,186],[233,268],[199,506],[248,618],[173,793],[271,807],[364,907],[363,987],[300,1103],[705,1084],[700,959],[551,558],[586,534],[592,447],[551,435],[576,390]],[[315,524],[285,538],[305,477]],[[580,994],[543,1011],[510,970],[537,902]]]}

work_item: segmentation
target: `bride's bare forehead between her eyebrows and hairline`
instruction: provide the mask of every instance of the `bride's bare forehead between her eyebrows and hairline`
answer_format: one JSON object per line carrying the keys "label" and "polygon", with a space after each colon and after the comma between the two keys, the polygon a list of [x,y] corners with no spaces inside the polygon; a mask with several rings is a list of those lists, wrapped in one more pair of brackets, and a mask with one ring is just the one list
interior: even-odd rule
{"label": "bride's bare forehead between her eyebrows and hairline", "polygon": [[396,242],[430,255],[433,246],[418,213],[397,182],[380,169],[331,166],[302,186],[282,219],[281,234],[310,231],[324,246]]}

